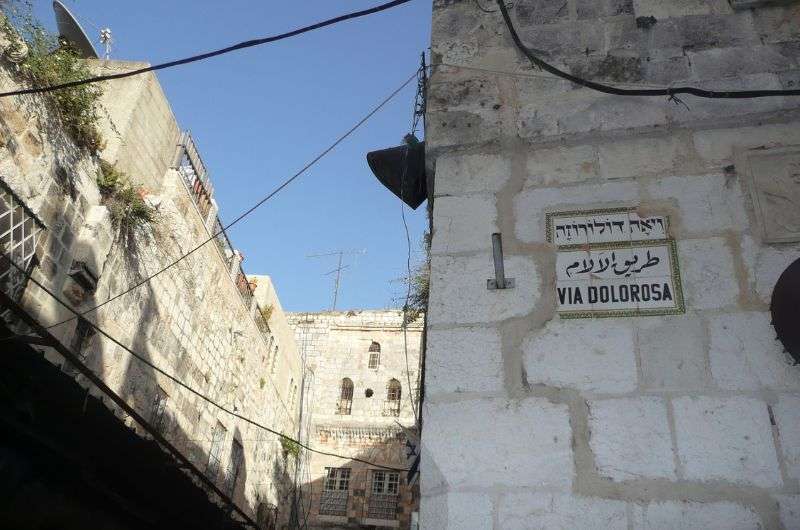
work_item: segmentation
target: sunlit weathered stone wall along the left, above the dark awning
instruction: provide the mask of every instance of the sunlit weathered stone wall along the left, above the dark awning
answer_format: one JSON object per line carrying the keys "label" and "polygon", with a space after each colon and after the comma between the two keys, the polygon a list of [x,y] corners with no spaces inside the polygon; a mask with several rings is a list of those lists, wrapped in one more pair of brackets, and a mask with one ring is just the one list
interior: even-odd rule
{"label": "sunlit weathered stone wall along the left, above the dark awning", "polygon": [[[97,67],[133,66],[138,63]],[[0,69],[0,86],[19,87],[7,65]],[[97,160],[63,136],[45,101],[33,96],[0,100],[0,178],[44,223],[33,277],[78,311],[109,301],[209,237],[183,177],[168,162],[177,154],[179,128],[155,76],[106,83],[104,91],[102,114],[110,121],[102,124],[108,145],[101,156],[145,186],[147,201],[158,211],[157,222],[131,244],[115,233],[103,205]],[[299,406],[289,399],[287,382],[292,377],[299,381],[301,373],[292,334],[282,311],[276,311],[270,326],[283,330],[282,356],[277,368],[270,368],[271,334],[258,324],[256,302],[237,289],[233,278],[238,267],[232,271],[230,260],[212,241],[86,318],[224,407],[294,435]],[[98,277],[96,289],[87,290],[72,278],[77,261]],[[277,304],[273,290],[266,296]],[[47,326],[73,316],[32,284],[22,303]],[[260,503],[277,505],[285,520],[293,469],[274,435],[221,412],[87,329],[69,320],[51,331],[207,473],[214,432],[223,427],[221,471],[210,478],[227,489],[236,440],[244,453],[232,495],[236,504],[253,518]],[[63,362],[52,351],[46,355]],[[64,370],[75,373],[69,366]]]}

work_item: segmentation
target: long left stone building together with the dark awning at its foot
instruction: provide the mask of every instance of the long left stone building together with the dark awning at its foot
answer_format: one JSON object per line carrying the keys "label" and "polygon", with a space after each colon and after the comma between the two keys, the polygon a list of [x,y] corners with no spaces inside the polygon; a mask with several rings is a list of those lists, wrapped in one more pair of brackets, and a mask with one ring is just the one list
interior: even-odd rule
{"label": "long left stone building together with the dark awning at its foot", "polygon": [[[142,66],[91,64],[104,73]],[[0,90],[20,86],[4,56]],[[72,142],[44,96],[0,99],[4,252],[73,309],[104,304],[74,319],[3,262],[3,287],[14,288],[23,309],[2,308],[4,384],[30,384],[13,399],[3,394],[0,526],[38,528],[36,520],[51,518],[50,527],[63,528],[274,528],[288,520],[295,457],[274,434],[198,394],[295,436],[303,369],[292,332],[272,286],[245,276],[242,255],[224,234],[116,297],[211,238],[220,221],[208,172],[155,75],[108,82],[103,90],[106,145],[99,156]],[[126,239],[116,231],[97,184],[100,161],[124,172],[155,208],[156,222],[144,233]],[[49,339],[30,339],[36,329],[21,324],[23,315],[52,326],[59,347],[89,371],[65,362]],[[15,338],[7,340],[10,334]],[[36,364],[42,354],[49,368]],[[159,437],[166,442],[148,441]],[[58,455],[49,471],[42,470],[48,451]],[[32,499],[53,509],[22,509]]]}

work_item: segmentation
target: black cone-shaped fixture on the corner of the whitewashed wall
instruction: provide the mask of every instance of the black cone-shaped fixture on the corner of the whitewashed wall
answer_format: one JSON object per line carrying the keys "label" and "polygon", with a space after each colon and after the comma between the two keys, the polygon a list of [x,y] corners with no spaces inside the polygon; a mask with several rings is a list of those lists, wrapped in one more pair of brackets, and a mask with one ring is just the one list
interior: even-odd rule
{"label": "black cone-shaped fixture on the corner of the whitewashed wall", "polygon": [[367,153],[367,163],[381,184],[412,209],[428,198],[425,142],[372,151]]}

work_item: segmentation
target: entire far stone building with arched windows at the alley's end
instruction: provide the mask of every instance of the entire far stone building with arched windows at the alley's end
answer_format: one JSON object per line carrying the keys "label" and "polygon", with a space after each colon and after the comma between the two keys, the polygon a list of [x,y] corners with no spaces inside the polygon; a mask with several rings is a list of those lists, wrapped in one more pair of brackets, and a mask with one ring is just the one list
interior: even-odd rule
{"label": "entire far stone building with arched windows at the alley's end", "polygon": [[421,322],[404,333],[397,310],[292,313],[289,322],[314,371],[310,443],[370,462],[310,455],[309,527],[409,528],[418,498],[403,470],[416,425]]}

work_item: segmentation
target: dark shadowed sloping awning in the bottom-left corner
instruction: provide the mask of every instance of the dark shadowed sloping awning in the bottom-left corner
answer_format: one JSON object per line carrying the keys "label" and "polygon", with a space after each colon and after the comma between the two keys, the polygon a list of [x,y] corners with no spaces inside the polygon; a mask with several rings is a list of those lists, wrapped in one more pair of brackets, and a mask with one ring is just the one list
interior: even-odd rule
{"label": "dark shadowed sloping awning in the bottom-left corner", "polygon": [[[0,324],[0,336],[9,335]],[[244,528],[33,347],[0,343],[0,528]]]}

